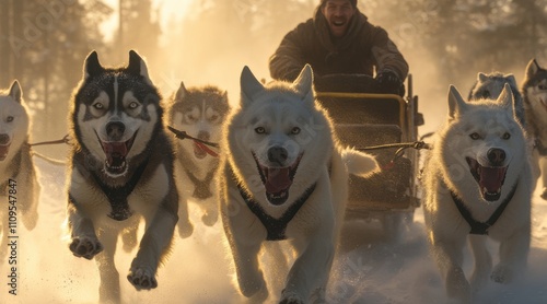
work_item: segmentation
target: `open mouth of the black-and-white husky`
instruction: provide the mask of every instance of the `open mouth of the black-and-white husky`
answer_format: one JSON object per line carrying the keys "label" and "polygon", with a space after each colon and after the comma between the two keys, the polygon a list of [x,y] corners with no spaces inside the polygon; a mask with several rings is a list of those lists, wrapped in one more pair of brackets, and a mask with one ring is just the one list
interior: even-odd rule
{"label": "open mouth of the black-and-white husky", "polygon": [[102,141],[98,139],[106,155],[105,171],[107,174],[117,176],[127,172],[126,157],[133,145],[136,137],[137,132],[126,141]]}

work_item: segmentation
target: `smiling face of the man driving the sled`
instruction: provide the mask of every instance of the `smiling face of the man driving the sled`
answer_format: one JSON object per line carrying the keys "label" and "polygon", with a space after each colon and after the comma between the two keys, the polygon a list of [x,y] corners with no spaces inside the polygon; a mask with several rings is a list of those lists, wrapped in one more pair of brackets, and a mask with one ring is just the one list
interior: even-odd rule
{"label": "smiling face of the man driving the sled", "polygon": [[330,28],[330,34],[335,37],[341,37],[348,31],[349,21],[356,10],[349,0],[327,0],[321,9]]}

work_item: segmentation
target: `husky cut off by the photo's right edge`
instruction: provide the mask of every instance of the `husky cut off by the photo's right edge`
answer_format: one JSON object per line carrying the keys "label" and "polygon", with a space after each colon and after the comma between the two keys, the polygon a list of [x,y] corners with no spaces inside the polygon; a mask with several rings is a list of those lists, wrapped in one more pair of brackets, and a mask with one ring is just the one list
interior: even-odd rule
{"label": "husky cut off by the photo's right edge", "polygon": [[534,173],[542,176],[542,198],[547,200],[547,70],[535,59],[526,66],[521,85],[526,107],[526,131],[534,140]]}

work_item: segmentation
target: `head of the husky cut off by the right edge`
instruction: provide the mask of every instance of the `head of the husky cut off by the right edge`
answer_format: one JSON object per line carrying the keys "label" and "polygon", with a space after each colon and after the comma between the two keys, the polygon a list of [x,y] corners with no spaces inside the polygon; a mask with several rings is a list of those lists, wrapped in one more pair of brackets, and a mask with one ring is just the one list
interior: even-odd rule
{"label": "head of the husky cut off by the right edge", "polygon": [[533,113],[547,115],[547,70],[539,67],[535,59],[526,67],[522,93]]}

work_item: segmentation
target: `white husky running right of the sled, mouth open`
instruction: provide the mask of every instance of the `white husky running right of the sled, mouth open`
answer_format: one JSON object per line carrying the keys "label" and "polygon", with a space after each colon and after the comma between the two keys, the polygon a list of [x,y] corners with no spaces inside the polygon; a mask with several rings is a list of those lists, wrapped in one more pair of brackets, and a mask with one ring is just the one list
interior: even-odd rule
{"label": "white husky running right of the sled, mouth open", "polygon": [[[447,121],[438,135],[422,176],[424,222],[447,296],[468,303],[488,278],[509,283],[526,267],[531,144],[509,84],[498,100],[472,103],[451,86]],[[493,269],[487,237],[500,243]],[[470,281],[462,269],[466,238],[475,258]]]}

